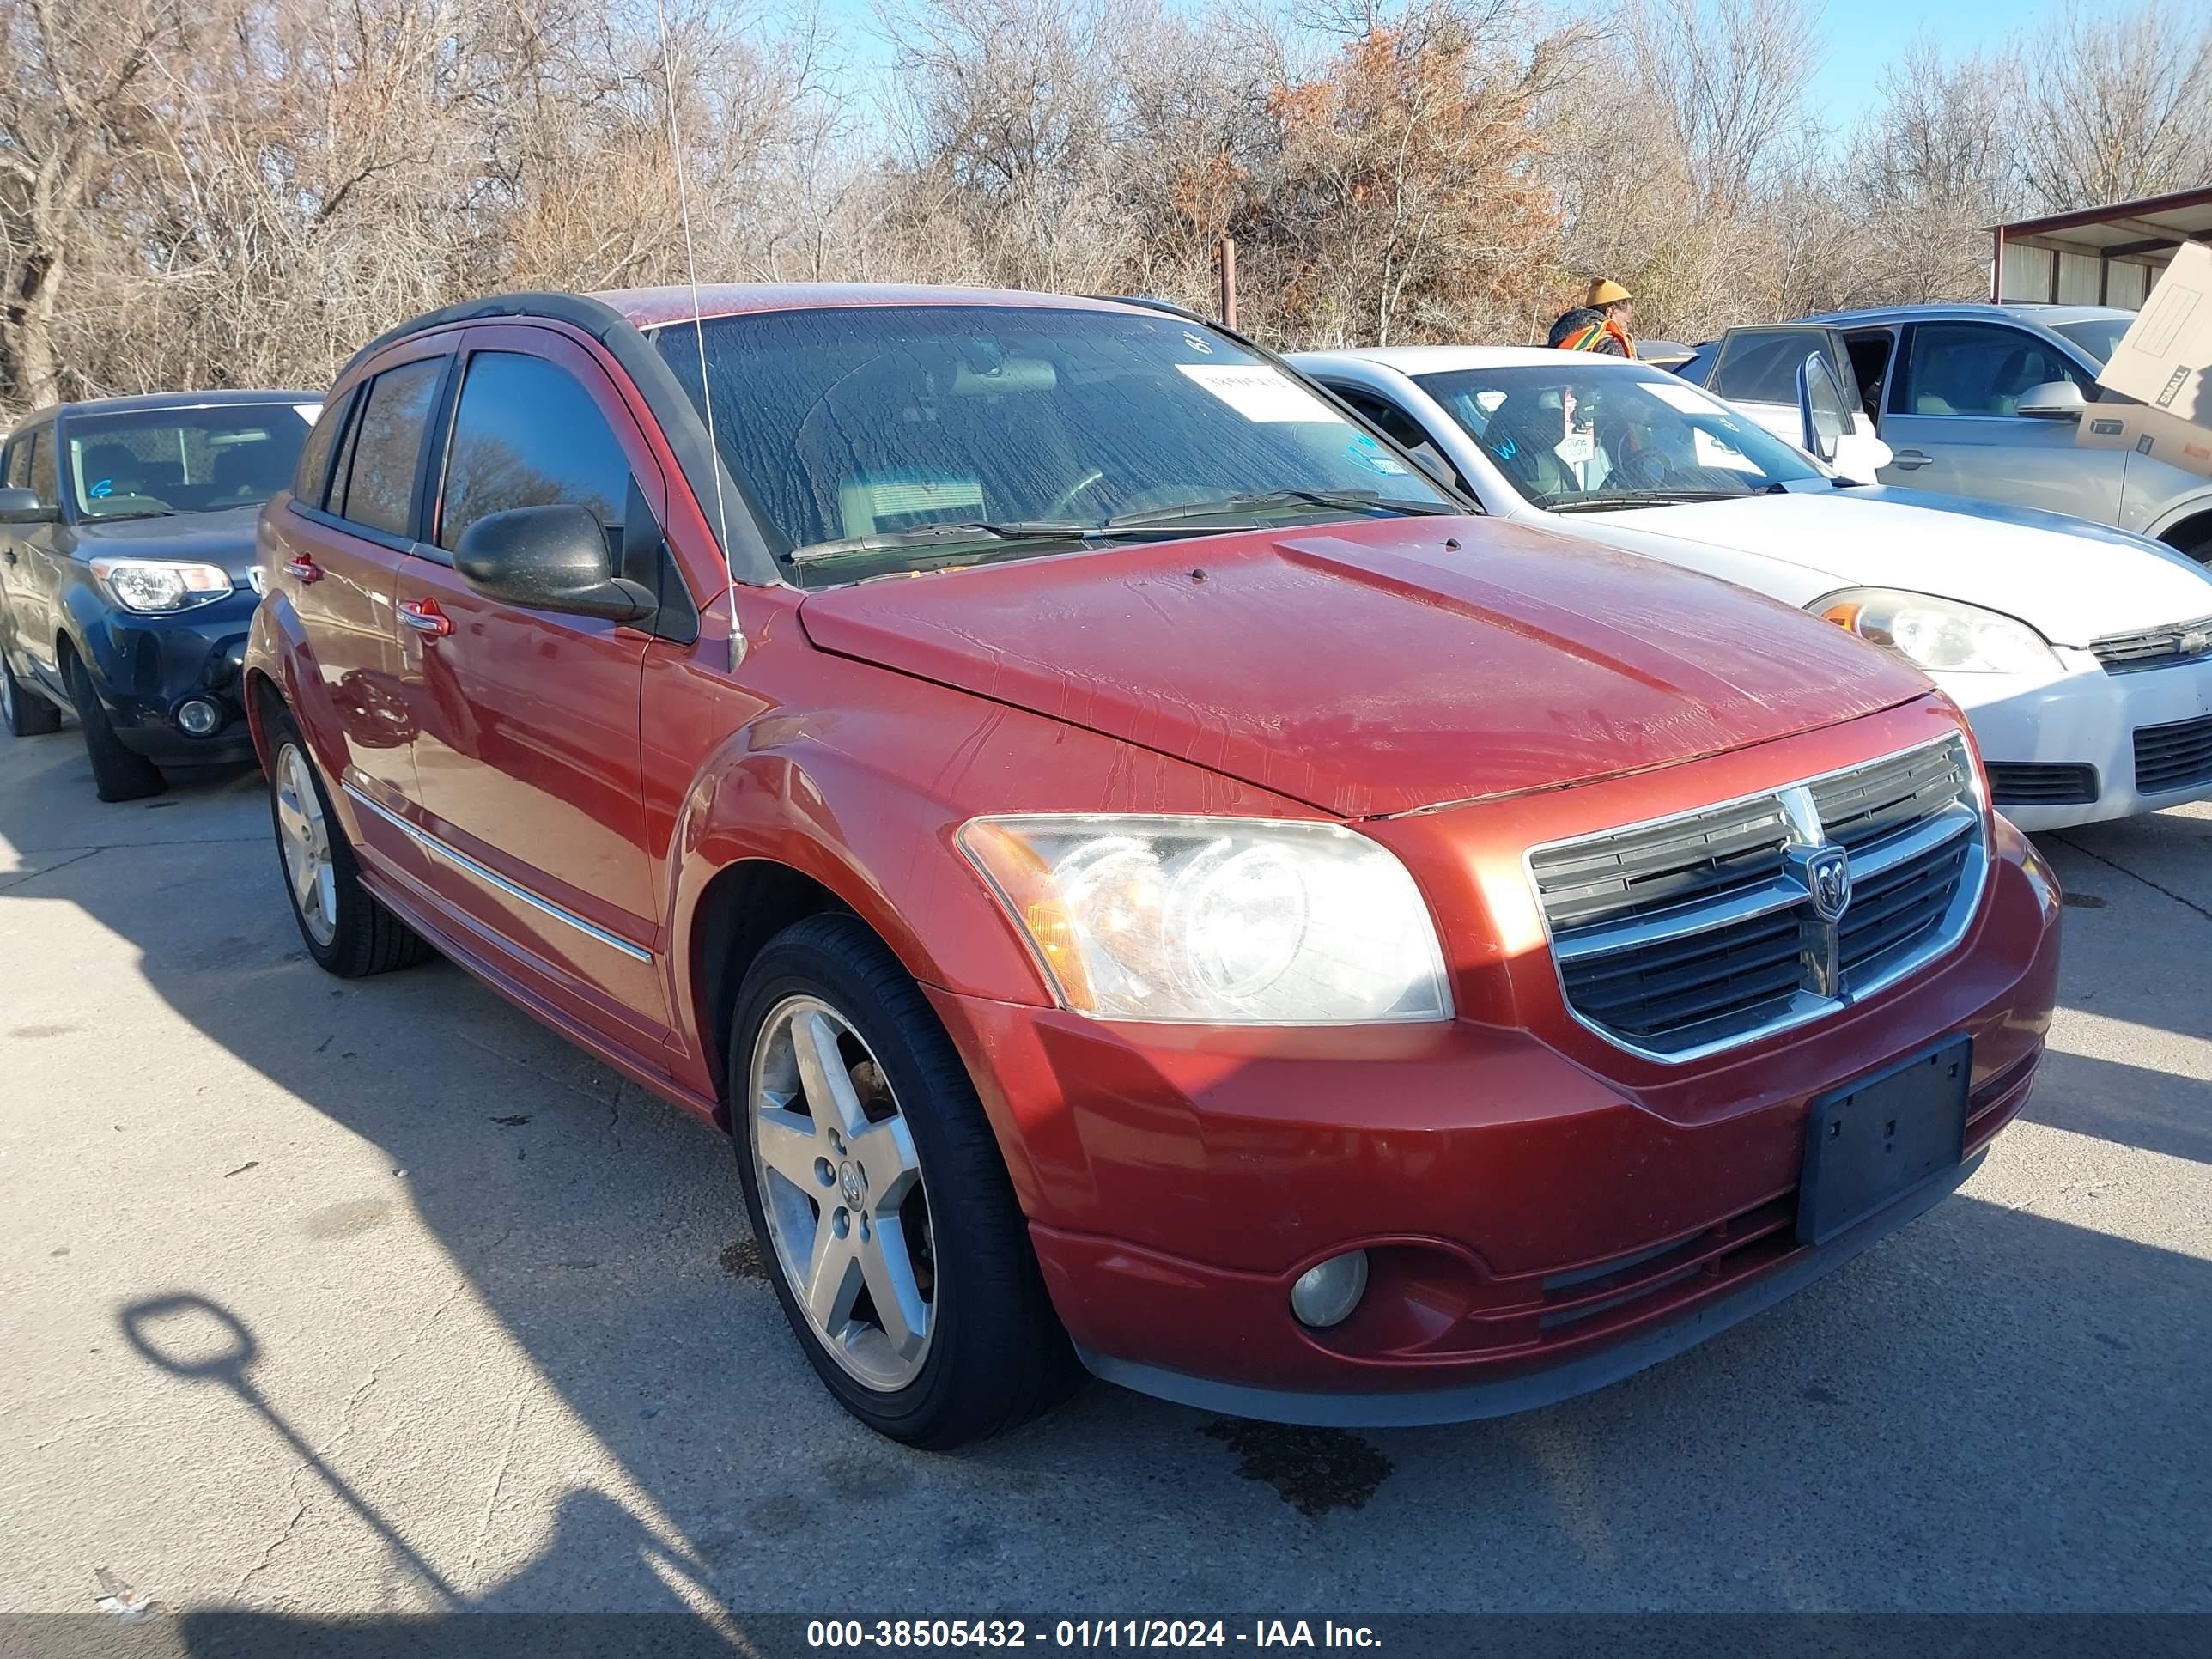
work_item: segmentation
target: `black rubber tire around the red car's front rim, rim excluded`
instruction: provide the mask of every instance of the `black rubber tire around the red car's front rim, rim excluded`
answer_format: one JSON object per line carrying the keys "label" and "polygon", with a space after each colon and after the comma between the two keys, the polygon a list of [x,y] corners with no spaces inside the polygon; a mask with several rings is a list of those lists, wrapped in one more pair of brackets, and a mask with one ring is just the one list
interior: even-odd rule
{"label": "black rubber tire around the red car's front rim, rim excluded", "polygon": [[[885,998],[891,975],[898,991]],[[869,1389],[825,1352],[796,1292],[785,1283],[768,1230],[752,1157],[750,1073],[761,1024],[792,995],[827,1002],[874,1051],[920,1157],[938,1265],[933,1329],[920,1374],[891,1394]],[[752,1237],[759,1241],[761,1265],[776,1301],[816,1376],[847,1411],[894,1440],[942,1447],[989,1433],[995,1422],[980,1429],[964,1427],[962,1420],[969,1416],[991,1416],[982,1400],[964,1396],[989,1394],[987,1371],[993,1363],[1022,1365],[1022,1356],[1037,1347],[1037,1332],[1029,1329],[1029,1323],[1040,1312],[1051,1321],[1051,1312],[1042,1298],[1042,1281],[1031,1298],[1006,1294],[1015,1287],[1004,1283],[1002,1272],[984,1265],[1018,1248],[1024,1252],[1022,1267],[1035,1274],[1035,1261],[1026,1254],[1026,1223],[973,1082],[920,989],[858,918],[816,916],[796,922],[761,951],[739,989],[737,1018],[730,1022],[728,1084],[730,1128]],[[1051,1340],[1066,1340],[1057,1332],[1057,1321],[1051,1321]],[[984,1405],[984,1411],[969,1409],[975,1405]]]}

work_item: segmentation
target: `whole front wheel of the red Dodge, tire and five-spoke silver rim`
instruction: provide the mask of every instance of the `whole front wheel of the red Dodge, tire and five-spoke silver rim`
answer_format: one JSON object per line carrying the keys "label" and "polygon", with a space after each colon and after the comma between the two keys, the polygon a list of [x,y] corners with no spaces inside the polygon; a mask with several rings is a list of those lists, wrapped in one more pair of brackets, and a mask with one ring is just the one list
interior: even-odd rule
{"label": "whole front wheel of the red Dodge, tire and five-spoke silver rim", "polygon": [[739,989],[730,1113],[745,1212],[823,1385],[945,1451],[1082,1371],[958,1051],[856,916],[779,933]]}

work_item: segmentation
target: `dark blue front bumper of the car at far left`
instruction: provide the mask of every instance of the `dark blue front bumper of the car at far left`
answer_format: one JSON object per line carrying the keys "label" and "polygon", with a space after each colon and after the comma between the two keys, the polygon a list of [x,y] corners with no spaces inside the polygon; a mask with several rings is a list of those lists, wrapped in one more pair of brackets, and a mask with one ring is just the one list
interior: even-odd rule
{"label": "dark blue front bumper of the car at far left", "polygon": [[[86,628],[82,644],[93,690],[124,748],[155,765],[254,759],[246,706],[239,701],[254,604],[254,595],[241,588],[228,599],[173,617],[106,611]],[[177,710],[195,699],[217,710],[217,728],[206,737],[192,737],[177,721]]]}

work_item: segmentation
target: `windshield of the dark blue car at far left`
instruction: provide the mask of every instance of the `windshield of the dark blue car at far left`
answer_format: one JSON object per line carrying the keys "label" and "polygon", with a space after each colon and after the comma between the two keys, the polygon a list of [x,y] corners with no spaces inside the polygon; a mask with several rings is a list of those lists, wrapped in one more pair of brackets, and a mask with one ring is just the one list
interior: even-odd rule
{"label": "windshield of the dark blue car at far left", "polygon": [[316,403],[223,403],[71,416],[64,487],[77,518],[259,507],[292,482]]}

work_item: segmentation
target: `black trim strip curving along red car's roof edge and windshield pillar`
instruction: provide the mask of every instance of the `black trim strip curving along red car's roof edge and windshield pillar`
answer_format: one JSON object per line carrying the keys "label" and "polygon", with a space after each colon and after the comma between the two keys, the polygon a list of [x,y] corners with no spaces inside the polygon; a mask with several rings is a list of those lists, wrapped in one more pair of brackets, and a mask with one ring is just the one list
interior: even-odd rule
{"label": "black trim strip curving along red car's roof edge and windshield pillar", "polygon": [[684,392],[675,369],[668,367],[668,361],[659,354],[653,341],[648,341],[628,316],[617,312],[606,301],[591,299],[588,294],[518,292],[467,299],[458,305],[440,305],[436,312],[422,312],[422,316],[414,316],[398,327],[385,330],[374,341],[363,345],[345,361],[345,367],[338,369],[338,378],[343,380],[374,352],[383,352],[387,345],[396,345],[414,334],[427,334],[429,330],[449,327],[453,323],[498,323],[507,319],[566,323],[604,345],[606,354],[615,358],[624,374],[630,376],[630,383],[639,389],[646,407],[659,422],[661,436],[675,451],[684,482],[699,502],[708,535],[721,535],[721,526],[714,522],[714,504],[717,500],[723,504],[723,511],[728,513],[730,544],[721,549],[721,555],[730,566],[730,573],[750,586],[776,586],[783,582],[783,573],[776,568],[776,560],[768,551],[768,538],[761,535],[759,522],[745,507],[745,495],[739,491],[737,480],[730,478],[728,469],[723,469],[721,456],[717,456],[714,447],[708,442],[706,422],[699,418],[699,409],[690,400],[690,394]]}

